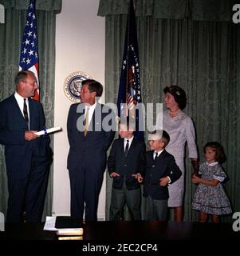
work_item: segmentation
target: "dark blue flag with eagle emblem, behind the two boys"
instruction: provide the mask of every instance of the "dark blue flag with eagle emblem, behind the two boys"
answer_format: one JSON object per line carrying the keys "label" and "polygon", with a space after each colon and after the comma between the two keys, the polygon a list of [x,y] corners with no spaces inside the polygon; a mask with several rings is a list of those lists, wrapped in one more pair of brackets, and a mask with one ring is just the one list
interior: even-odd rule
{"label": "dark blue flag with eagle emblem, behind the two boys", "polygon": [[136,34],[136,18],[133,1],[131,0],[128,6],[128,22],[125,34],[124,57],[121,68],[117,108],[119,117],[129,116],[130,118],[134,118],[136,122],[135,136],[144,140],[143,116],[141,109],[138,108],[140,102],[142,102],[140,62]]}

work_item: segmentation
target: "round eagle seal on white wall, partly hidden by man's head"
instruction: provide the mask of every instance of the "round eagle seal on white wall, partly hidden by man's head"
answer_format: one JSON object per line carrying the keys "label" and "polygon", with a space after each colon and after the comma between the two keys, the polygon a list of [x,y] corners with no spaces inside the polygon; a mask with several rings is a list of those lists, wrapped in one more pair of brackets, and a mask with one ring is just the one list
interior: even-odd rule
{"label": "round eagle seal on white wall, partly hidden by man's head", "polygon": [[80,99],[80,90],[81,90],[81,82],[86,79],[89,79],[89,74],[85,74],[81,71],[76,71],[71,74],[67,78],[65,78],[64,82],[64,91],[72,102],[81,102]]}

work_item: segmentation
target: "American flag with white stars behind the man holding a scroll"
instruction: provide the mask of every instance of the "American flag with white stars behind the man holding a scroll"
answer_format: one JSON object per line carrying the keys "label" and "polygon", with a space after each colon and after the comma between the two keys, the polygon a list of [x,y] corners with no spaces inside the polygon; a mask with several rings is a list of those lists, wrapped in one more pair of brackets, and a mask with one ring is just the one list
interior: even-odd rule
{"label": "American flag with white stars behind the man holding a scroll", "polygon": [[[35,14],[36,0],[30,0],[26,14],[26,25],[22,36],[19,70],[32,71],[38,81],[38,54],[37,54],[37,20]],[[33,97],[39,100],[39,90]]]}

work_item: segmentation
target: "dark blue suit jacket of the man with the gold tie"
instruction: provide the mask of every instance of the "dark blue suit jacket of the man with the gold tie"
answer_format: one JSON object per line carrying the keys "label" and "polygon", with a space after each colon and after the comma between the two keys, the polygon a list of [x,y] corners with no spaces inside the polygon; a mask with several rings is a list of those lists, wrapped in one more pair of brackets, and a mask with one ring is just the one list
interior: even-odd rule
{"label": "dark blue suit jacket of the man with the gold tie", "polygon": [[[112,120],[114,122],[112,123],[112,127],[115,130],[115,118],[111,109],[97,103],[89,124],[89,132],[85,137],[83,126],[84,110],[84,103],[73,104],[69,109],[67,122],[70,146],[68,169],[75,170],[84,165],[89,166],[89,168],[92,168],[96,172],[104,172],[106,167],[106,152],[112,143],[115,132],[104,130],[103,126],[108,121],[111,124]],[[104,128],[109,129],[111,127]]]}

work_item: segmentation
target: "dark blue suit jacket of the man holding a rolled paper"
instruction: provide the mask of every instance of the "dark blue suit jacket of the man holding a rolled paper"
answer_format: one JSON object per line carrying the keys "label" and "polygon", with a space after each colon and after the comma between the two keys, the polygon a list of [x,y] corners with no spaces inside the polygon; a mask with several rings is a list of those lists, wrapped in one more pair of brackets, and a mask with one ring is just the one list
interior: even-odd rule
{"label": "dark blue suit jacket of the man holding a rolled paper", "polygon": [[[29,98],[29,108],[30,130],[43,130],[45,116],[41,103]],[[7,169],[18,168],[22,164],[22,156],[27,154],[41,158],[41,162],[49,161],[49,136],[26,141],[26,130],[28,130],[27,123],[13,94],[0,102],[0,142],[5,145]],[[31,161],[30,158],[28,159]],[[17,171],[16,174],[18,174]]]}

